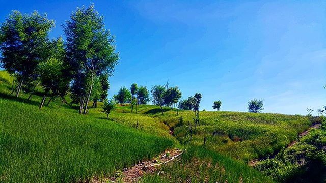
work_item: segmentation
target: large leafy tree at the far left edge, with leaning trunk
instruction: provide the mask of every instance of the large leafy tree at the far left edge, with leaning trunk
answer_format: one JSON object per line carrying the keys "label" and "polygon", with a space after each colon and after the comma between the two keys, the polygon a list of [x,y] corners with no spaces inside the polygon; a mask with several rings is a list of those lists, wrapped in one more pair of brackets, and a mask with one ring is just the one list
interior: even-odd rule
{"label": "large leafy tree at the far left edge, with leaning trunk", "polygon": [[0,51],[2,67],[17,76],[19,96],[25,80],[35,77],[39,63],[48,57],[48,33],[55,23],[46,14],[34,11],[21,14],[13,11],[0,26]]}

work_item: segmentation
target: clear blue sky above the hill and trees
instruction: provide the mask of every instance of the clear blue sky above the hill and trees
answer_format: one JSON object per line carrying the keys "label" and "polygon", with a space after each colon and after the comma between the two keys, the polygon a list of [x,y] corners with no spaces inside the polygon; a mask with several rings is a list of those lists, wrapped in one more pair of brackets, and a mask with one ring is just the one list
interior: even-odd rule
{"label": "clear blue sky above the hill and trees", "polygon": [[326,3],[318,1],[7,1],[11,12],[47,12],[50,36],[82,5],[95,4],[116,36],[120,63],[110,95],[136,82],[169,80],[183,98],[201,93],[201,109],[247,111],[264,100],[264,112],[306,114],[326,105]]}

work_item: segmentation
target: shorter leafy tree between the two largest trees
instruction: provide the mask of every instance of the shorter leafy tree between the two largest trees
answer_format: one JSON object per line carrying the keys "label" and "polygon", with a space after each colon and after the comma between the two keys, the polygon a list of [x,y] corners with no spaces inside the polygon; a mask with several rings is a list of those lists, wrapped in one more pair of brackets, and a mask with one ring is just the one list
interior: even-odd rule
{"label": "shorter leafy tree between the two largest trees", "polygon": [[50,57],[41,62],[38,66],[38,74],[40,75],[40,82],[44,88],[45,94],[40,104],[42,108],[46,96],[51,93],[51,98],[47,105],[51,102],[53,97],[63,98],[69,89],[71,80],[69,73],[69,65],[65,59],[64,42],[61,37],[49,43]]}

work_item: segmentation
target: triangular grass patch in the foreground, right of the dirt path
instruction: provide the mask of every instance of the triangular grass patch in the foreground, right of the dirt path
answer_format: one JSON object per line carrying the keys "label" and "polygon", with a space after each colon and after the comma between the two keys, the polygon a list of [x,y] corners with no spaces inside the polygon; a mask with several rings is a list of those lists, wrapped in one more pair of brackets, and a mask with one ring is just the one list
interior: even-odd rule
{"label": "triangular grass patch in the foreground, right of the dirt path", "polygon": [[142,182],[273,182],[241,161],[195,146],[189,147],[180,161],[159,171],[160,175],[145,175]]}

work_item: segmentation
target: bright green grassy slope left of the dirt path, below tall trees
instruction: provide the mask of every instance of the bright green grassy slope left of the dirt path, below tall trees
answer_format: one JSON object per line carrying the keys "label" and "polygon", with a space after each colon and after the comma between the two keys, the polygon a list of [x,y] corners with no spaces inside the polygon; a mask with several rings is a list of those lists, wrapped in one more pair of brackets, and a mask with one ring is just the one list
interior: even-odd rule
{"label": "bright green grassy slope left of the dirt path, below tall trees", "polygon": [[[151,117],[113,113],[114,121],[106,120],[98,110],[83,116],[57,103],[39,110],[39,96],[28,102],[22,94],[16,100],[7,95],[9,83],[0,81],[0,182],[85,180],[175,144],[167,127]],[[126,122],[134,119],[139,119],[139,129]]]}

